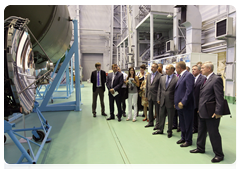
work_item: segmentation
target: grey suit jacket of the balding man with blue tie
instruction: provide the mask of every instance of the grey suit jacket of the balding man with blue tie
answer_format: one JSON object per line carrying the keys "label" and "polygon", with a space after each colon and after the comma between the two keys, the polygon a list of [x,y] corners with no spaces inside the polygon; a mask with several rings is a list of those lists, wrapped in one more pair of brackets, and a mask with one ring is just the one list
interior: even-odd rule
{"label": "grey suit jacket of the balding man with blue tie", "polygon": [[178,81],[178,77],[173,74],[171,81],[166,88],[166,77],[168,75],[161,76],[161,80],[158,86],[157,101],[160,101],[160,106],[165,105],[167,108],[174,107],[174,93],[175,86]]}

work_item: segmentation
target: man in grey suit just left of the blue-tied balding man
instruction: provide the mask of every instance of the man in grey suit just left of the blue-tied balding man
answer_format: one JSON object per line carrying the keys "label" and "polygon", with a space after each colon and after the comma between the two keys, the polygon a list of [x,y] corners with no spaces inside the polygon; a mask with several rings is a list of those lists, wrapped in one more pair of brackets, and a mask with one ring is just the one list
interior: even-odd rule
{"label": "man in grey suit just left of the blue-tied balding man", "polygon": [[[151,66],[152,73],[148,74],[147,76],[145,97],[148,99],[149,103],[149,123],[145,127],[154,126],[153,105],[155,105],[157,113],[159,110],[159,104],[157,103],[157,91],[160,77],[162,74],[159,73],[157,69],[158,65],[156,63],[153,63]],[[158,118],[156,120],[156,124],[158,124]],[[156,130],[156,127],[154,128],[154,130]]]}

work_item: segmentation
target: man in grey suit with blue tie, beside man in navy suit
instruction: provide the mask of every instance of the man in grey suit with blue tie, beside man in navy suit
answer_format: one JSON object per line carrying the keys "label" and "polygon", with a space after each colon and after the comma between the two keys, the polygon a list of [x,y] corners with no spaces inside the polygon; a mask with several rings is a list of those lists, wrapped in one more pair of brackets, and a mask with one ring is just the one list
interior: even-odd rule
{"label": "man in grey suit with blue tie, beside man in navy suit", "polygon": [[175,86],[178,81],[178,77],[173,74],[174,67],[173,65],[168,65],[166,67],[166,75],[161,76],[161,80],[158,86],[157,101],[160,104],[160,114],[158,117],[159,121],[159,130],[153,132],[155,134],[163,134],[165,119],[168,116],[168,138],[172,137],[172,125],[173,118],[175,114],[174,108],[174,92]]}

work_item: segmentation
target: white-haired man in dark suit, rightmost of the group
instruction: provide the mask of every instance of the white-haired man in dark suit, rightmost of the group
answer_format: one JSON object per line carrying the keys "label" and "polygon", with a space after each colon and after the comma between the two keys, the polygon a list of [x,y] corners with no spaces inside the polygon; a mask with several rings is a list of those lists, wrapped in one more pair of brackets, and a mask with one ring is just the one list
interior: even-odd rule
{"label": "white-haired man in dark suit, rightmost of the group", "polygon": [[[202,74],[206,76],[206,81],[204,81],[203,85],[200,87],[197,149],[191,150],[190,152],[205,152],[205,143],[208,132],[213,152],[215,153],[215,157],[211,161],[213,163],[220,162],[224,158],[221,135],[218,130],[224,106],[223,80],[221,77],[213,73],[213,64],[211,62],[205,62],[202,65],[201,71]],[[216,102],[215,113],[210,113],[212,115],[209,115],[206,103],[212,101]]]}

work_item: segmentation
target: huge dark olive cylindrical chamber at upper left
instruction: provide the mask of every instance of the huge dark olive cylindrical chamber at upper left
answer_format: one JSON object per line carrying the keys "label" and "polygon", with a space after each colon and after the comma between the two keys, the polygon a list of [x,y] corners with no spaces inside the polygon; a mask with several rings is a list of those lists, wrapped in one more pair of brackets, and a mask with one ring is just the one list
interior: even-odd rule
{"label": "huge dark olive cylindrical chamber at upper left", "polygon": [[[56,62],[69,47],[72,22],[65,5],[5,5],[4,19],[10,16],[28,18],[29,29],[52,62]],[[35,69],[46,66],[48,58],[31,36]]]}

